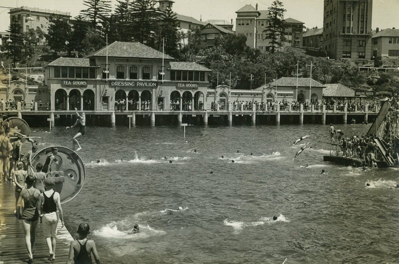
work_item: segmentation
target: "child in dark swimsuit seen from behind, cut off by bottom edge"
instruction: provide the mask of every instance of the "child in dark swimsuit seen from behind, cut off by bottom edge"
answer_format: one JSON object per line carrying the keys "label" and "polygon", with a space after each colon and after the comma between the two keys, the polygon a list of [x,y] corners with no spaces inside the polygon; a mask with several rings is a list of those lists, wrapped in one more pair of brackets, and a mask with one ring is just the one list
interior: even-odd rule
{"label": "child in dark swimsuit seen from behind, cut off by bottom edge", "polygon": [[91,264],[91,253],[93,253],[96,264],[100,264],[100,257],[97,253],[96,244],[93,240],[87,239],[90,234],[90,227],[87,223],[81,223],[77,229],[79,239],[71,242],[67,264]]}

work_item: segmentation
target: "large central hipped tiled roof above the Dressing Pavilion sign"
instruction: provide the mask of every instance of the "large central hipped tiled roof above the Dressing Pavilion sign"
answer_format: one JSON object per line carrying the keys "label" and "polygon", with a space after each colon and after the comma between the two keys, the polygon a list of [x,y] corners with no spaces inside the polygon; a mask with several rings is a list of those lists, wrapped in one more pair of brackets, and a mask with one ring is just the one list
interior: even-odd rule
{"label": "large central hipped tiled roof above the Dressing Pavilion sign", "polygon": [[[85,58],[107,56],[107,47],[103,47]],[[128,57],[128,58],[148,58],[162,59],[162,52],[157,51],[139,42],[122,42],[115,41],[108,45],[108,57]],[[173,59],[169,55],[164,54],[164,59]]]}

